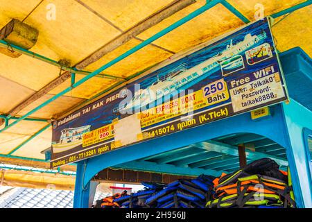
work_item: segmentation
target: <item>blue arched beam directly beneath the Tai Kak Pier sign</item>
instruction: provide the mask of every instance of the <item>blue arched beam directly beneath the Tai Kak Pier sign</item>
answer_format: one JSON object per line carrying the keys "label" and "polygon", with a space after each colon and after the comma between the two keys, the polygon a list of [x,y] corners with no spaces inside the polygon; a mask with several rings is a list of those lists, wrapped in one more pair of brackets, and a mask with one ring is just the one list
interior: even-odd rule
{"label": "blue arched beam directly beneath the Tai Kak Pier sign", "polygon": [[[273,109],[275,110],[275,115],[271,119],[251,121],[249,113],[240,114],[235,117],[191,128],[158,139],[151,139],[148,142],[142,142],[140,144],[128,146],[127,148],[111,151],[105,155],[92,157],[87,160],[85,171],[82,168],[78,168],[77,170],[77,175],[85,175],[85,177],[84,180],[80,177],[80,179],[76,181],[76,192],[79,193],[82,186],[86,187],[89,180],[91,180],[96,173],[107,167],[118,166],[119,164],[125,164],[126,162],[138,160],[150,155],[172,151],[189,144],[195,144],[206,141],[207,139],[213,139],[232,133],[257,132],[257,134],[268,137],[281,146],[286,147],[287,144],[286,137],[284,136],[285,134],[283,133],[285,132],[285,128],[281,105],[275,105]],[[281,132],[281,135],[272,133],[272,131],[275,130]],[[187,173],[188,169],[184,169],[185,173]],[[144,167],[142,167],[141,170],[144,170]],[[162,171],[168,171],[168,169],[165,167]],[[84,204],[76,206],[86,207]]]}

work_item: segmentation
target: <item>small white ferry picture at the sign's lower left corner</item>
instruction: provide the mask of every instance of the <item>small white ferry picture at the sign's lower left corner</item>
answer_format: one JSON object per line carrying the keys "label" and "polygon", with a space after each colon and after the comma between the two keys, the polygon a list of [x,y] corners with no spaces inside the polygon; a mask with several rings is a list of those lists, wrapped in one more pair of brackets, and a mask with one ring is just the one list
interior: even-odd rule
{"label": "small white ferry picture at the sign's lower left corner", "polygon": [[52,142],[53,153],[69,151],[83,143],[83,134],[90,131],[91,125],[65,128],[61,131],[60,141]]}

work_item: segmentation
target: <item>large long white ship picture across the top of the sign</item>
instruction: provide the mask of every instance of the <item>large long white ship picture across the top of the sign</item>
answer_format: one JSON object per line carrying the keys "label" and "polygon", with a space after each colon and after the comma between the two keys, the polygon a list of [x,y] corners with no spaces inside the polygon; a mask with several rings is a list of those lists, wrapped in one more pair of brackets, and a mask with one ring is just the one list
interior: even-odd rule
{"label": "large long white ship picture across the top of the sign", "polygon": [[[233,45],[233,41],[231,40],[230,44],[227,44],[224,51],[209,58],[208,60],[205,60],[199,65],[191,67],[190,69],[186,69],[185,65],[180,65],[177,67],[178,70],[171,72],[165,78],[157,78],[157,81],[153,83],[153,85],[135,92],[135,95],[132,97],[130,102],[121,108],[119,107],[114,109],[114,112],[121,112],[121,114],[123,114],[130,110],[138,110],[139,108],[151,105],[159,99],[166,101],[168,99],[166,98],[168,97],[166,95],[174,96],[178,93],[177,89],[187,89],[187,87],[191,87],[192,85],[198,83],[198,81],[207,77],[209,71],[215,69],[216,67],[220,67],[220,62],[228,60],[229,58],[234,58],[234,56],[238,56],[240,53],[250,49],[254,46],[254,44],[266,39],[266,37],[267,35],[265,31],[261,31],[259,35],[251,35],[248,33],[245,35],[243,41],[237,42]],[[237,63],[232,63],[232,65],[239,66],[240,61],[238,60],[236,62]]]}

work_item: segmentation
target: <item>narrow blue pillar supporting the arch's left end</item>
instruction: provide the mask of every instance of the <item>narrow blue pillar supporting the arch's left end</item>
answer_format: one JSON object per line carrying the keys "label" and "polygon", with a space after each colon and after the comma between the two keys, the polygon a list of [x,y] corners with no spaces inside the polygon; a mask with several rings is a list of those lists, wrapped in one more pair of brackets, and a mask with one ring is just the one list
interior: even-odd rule
{"label": "narrow blue pillar supporting the arch's left end", "polygon": [[89,191],[90,182],[83,186],[83,178],[85,175],[85,164],[87,162],[78,162],[76,170],[75,192],[73,196],[73,208],[88,208],[89,207]]}

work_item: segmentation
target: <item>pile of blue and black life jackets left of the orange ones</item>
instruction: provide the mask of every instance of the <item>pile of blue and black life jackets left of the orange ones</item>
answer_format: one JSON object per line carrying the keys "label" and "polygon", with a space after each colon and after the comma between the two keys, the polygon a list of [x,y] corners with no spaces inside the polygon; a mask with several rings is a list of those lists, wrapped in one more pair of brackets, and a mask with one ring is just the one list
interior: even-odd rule
{"label": "pile of blue and black life jackets left of the orange ones", "polygon": [[201,175],[164,184],[142,182],[146,189],[114,199],[122,208],[205,208],[212,198],[213,180]]}

